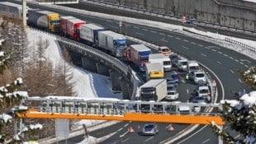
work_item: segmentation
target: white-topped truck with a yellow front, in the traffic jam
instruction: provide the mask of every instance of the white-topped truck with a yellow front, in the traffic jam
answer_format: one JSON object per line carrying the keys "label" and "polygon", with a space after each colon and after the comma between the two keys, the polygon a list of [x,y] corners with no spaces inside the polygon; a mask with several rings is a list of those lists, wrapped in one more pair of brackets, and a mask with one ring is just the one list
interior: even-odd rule
{"label": "white-topped truck with a yellow front, in the traffic jam", "polygon": [[145,66],[145,76],[147,81],[149,81],[150,79],[164,77],[163,63],[146,63]]}

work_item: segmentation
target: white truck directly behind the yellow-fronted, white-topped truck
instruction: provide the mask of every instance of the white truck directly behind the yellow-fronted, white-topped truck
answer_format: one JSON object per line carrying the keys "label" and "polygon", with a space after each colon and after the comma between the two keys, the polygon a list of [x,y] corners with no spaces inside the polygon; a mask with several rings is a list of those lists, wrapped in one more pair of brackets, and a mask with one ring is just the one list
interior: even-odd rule
{"label": "white truck directly behind the yellow-fronted, white-topped truck", "polygon": [[168,56],[164,56],[162,53],[149,54],[149,63],[162,63],[164,71],[171,71],[172,64]]}

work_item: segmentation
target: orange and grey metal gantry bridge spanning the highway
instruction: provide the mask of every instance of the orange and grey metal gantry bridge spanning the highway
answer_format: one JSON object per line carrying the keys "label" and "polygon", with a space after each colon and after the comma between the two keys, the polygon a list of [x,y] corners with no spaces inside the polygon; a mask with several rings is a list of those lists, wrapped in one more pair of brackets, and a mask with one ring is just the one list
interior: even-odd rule
{"label": "orange and grey metal gantry bridge spanning the highway", "polygon": [[118,100],[114,98],[79,98],[69,96],[29,97],[29,106],[17,107],[20,118],[64,118],[140,121],[156,123],[191,123],[223,125],[220,104]]}

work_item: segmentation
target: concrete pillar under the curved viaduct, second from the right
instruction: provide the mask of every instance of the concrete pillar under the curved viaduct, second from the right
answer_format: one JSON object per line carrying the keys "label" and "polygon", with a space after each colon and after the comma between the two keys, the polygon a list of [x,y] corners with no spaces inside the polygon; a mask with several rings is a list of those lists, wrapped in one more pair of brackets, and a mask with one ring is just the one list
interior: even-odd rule
{"label": "concrete pillar under the curved viaduct, second from the right", "polygon": [[112,91],[121,91],[121,81],[120,81],[120,73],[116,72],[115,70],[111,69],[109,70],[110,78],[111,78],[111,84],[112,84]]}

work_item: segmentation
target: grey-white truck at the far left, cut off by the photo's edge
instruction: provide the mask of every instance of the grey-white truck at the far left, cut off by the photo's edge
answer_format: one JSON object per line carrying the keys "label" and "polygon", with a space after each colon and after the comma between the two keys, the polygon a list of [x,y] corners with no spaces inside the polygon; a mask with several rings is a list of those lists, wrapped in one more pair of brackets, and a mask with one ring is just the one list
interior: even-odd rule
{"label": "grey-white truck at the far left, cut off by the photo's edge", "polygon": [[[26,7],[26,15],[27,9]],[[22,5],[12,2],[0,2],[0,13],[4,16],[9,16],[12,18],[22,19]]]}

